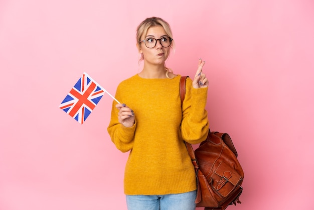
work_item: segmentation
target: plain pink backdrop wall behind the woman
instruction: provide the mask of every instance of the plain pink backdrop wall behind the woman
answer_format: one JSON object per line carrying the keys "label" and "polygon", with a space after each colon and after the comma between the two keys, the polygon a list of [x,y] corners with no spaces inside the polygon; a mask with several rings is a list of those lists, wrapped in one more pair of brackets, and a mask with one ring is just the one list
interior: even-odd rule
{"label": "plain pink backdrop wall behind the woman", "polygon": [[112,99],[83,125],[58,106],[83,72],[111,94],[138,73],[135,28],[150,16],[172,26],[175,73],[207,61],[211,130],[230,134],[245,172],[228,209],[314,209],[311,0],[1,0],[0,209],[126,209]]}

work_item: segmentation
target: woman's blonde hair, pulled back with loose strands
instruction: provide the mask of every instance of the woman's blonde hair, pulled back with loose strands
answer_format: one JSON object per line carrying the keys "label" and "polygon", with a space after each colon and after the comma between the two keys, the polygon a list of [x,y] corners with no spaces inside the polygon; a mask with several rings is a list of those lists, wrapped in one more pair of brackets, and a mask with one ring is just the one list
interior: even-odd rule
{"label": "woman's blonde hair, pulled back with loose strands", "polygon": [[[150,27],[154,27],[154,26],[162,26],[166,32],[166,34],[171,38],[173,39],[173,35],[172,35],[172,31],[171,31],[171,28],[170,28],[170,25],[163,19],[161,18],[157,18],[157,17],[151,17],[151,18],[146,18],[144,21],[142,21],[138,26],[137,26],[137,29],[136,29],[136,41],[137,41],[137,44],[138,46],[141,45],[141,37],[143,35],[146,36],[147,34],[147,31]],[[171,45],[170,47],[172,49],[174,49],[175,47],[175,42],[174,40],[172,40],[171,42]],[[140,62],[141,60],[144,60],[144,57],[143,57],[143,54],[141,54],[141,57],[139,59],[138,62]],[[165,64],[165,69],[167,71],[166,75],[168,77],[168,71],[170,72],[173,72],[172,69],[166,67],[166,64]]]}

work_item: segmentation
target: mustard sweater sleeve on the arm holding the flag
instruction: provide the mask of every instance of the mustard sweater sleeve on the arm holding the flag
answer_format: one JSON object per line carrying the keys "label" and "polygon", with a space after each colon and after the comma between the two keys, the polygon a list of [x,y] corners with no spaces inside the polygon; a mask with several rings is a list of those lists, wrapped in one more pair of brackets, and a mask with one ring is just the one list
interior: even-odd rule
{"label": "mustard sweater sleeve on the arm holding the flag", "polygon": [[[119,87],[117,88],[115,97],[121,100]],[[116,148],[121,152],[127,152],[133,148],[134,133],[136,122],[132,127],[124,127],[118,121],[118,110],[115,107],[116,101],[112,102],[111,119],[107,131],[111,137],[111,141],[115,144]]]}

